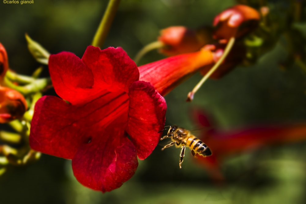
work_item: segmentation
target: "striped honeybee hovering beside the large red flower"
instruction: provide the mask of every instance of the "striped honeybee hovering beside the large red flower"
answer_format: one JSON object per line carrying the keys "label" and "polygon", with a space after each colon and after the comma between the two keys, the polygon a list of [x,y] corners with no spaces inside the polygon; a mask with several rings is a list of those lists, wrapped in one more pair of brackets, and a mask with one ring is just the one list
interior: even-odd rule
{"label": "striped honeybee hovering beside the large red flower", "polygon": [[172,142],[163,147],[162,150],[173,145],[176,145],[177,147],[182,147],[180,156],[180,168],[182,168],[181,165],[184,160],[186,146],[191,149],[191,154],[194,157],[197,154],[200,154],[204,157],[211,156],[212,154],[209,147],[207,147],[207,145],[204,144],[200,139],[192,135],[190,131],[184,128],[179,128],[176,125],[170,126],[168,134],[166,136],[163,136],[160,140],[166,138],[171,138]]}

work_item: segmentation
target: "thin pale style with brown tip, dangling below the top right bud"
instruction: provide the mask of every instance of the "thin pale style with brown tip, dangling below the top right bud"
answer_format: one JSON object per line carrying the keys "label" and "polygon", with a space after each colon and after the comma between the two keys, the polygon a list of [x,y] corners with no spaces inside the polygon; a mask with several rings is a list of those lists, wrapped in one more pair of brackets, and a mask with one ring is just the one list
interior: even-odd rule
{"label": "thin pale style with brown tip, dangling below the top right bud", "polygon": [[229,42],[226,45],[226,48],[220,57],[220,59],[217,61],[217,63],[209,70],[209,72],[206,73],[205,76],[201,79],[201,81],[193,88],[192,91],[188,93],[186,101],[190,102],[193,100],[193,96],[196,93],[196,91],[199,90],[199,88],[202,86],[202,84],[216,71],[216,69],[219,67],[219,65],[223,62],[223,60],[226,58],[226,56],[230,53],[230,50],[232,49],[233,45],[235,43],[235,37],[231,37]]}

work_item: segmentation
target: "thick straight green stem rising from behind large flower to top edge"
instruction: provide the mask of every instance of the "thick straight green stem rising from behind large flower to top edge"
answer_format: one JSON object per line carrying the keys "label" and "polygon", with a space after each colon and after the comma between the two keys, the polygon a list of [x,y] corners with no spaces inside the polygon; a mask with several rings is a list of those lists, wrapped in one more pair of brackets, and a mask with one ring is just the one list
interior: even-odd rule
{"label": "thick straight green stem rising from behind large flower to top edge", "polygon": [[120,0],[110,0],[91,45],[102,47],[114,20]]}

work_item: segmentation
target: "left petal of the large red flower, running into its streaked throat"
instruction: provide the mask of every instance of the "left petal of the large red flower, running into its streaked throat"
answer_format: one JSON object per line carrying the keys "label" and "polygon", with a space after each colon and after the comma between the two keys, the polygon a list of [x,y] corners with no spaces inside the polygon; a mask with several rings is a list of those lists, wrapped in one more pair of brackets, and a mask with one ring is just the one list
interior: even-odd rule
{"label": "left petal of the large red flower, running into its streaked throat", "polygon": [[32,149],[72,159],[78,147],[95,137],[128,109],[128,95],[123,91],[101,92],[84,105],[73,106],[54,96],[44,96],[35,105],[31,123]]}

